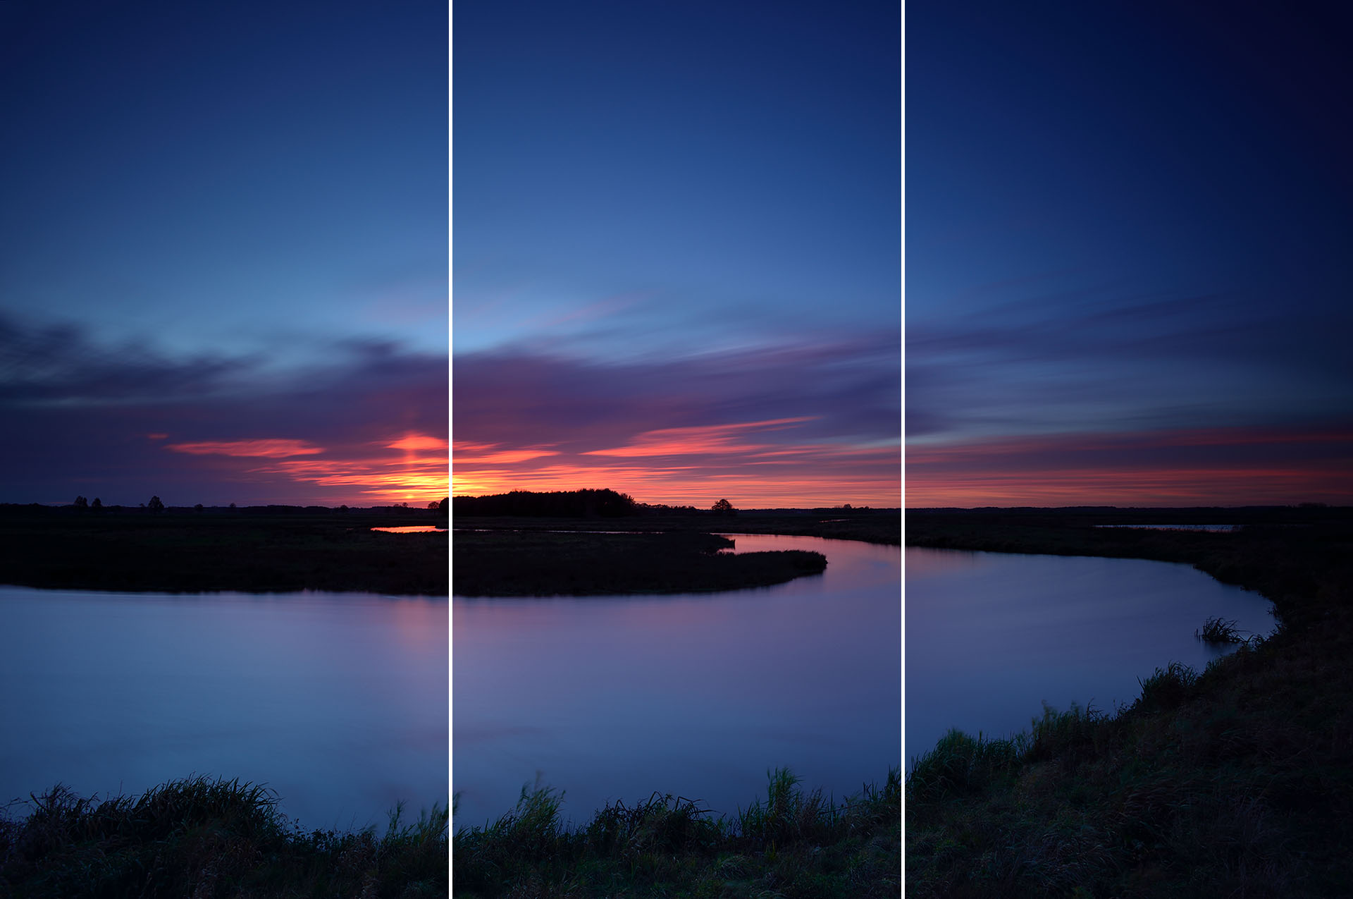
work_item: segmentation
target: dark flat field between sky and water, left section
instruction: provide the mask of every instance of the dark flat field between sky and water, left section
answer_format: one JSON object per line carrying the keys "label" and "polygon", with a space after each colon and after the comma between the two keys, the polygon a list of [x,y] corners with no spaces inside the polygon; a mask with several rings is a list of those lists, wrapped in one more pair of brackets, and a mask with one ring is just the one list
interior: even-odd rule
{"label": "dark flat field between sky and water, left section", "polygon": [[428,509],[0,506],[0,584],[446,596],[446,533],[371,531],[445,521]]}

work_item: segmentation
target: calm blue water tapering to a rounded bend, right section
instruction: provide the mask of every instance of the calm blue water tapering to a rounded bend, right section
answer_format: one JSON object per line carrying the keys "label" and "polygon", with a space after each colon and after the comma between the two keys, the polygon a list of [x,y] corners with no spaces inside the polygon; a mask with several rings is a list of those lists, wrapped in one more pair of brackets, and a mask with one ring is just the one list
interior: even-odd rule
{"label": "calm blue water tapering to a rounded bend, right section", "polygon": [[1188,565],[907,548],[907,757],[951,727],[1004,737],[1042,703],[1112,712],[1138,678],[1227,650],[1193,632],[1211,616],[1273,630],[1272,604]]}

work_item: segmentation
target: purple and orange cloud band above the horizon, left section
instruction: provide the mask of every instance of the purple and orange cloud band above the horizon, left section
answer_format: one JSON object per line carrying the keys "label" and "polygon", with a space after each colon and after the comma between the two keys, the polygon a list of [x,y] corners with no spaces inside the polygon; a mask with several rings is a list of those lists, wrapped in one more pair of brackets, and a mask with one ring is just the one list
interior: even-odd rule
{"label": "purple and orange cloud band above the horizon, left section", "polygon": [[325,366],[177,359],[0,317],[0,501],[446,496],[445,356],[380,341],[345,341],[326,356]]}

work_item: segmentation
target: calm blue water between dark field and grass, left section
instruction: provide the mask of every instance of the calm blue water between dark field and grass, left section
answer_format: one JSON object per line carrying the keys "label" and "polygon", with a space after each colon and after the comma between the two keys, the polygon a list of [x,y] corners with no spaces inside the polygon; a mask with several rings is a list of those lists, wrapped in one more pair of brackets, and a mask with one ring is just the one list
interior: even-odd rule
{"label": "calm blue water between dark field and grass, left section", "polygon": [[446,804],[442,598],[0,586],[0,804],[267,783],[306,827]]}

